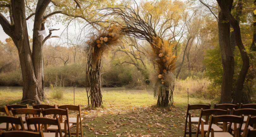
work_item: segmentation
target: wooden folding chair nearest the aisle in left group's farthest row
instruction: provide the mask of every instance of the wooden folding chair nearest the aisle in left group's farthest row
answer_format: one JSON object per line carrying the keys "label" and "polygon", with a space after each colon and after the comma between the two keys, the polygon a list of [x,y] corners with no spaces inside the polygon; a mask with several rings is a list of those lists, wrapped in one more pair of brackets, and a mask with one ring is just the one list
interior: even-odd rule
{"label": "wooden folding chair nearest the aisle in left group's farthest row", "polygon": [[[79,134],[83,137],[83,130],[82,130],[82,116],[81,116],[81,106],[74,106],[74,105],[63,105],[63,106],[58,106],[59,109],[69,109],[69,111],[78,111],[78,114],[76,117],[69,117],[69,122],[72,124],[76,124],[76,133],[71,132],[71,135],[75,134],[76,137],[78,137]],[[80,131],[79,133],[79,124],[80,124]]]}

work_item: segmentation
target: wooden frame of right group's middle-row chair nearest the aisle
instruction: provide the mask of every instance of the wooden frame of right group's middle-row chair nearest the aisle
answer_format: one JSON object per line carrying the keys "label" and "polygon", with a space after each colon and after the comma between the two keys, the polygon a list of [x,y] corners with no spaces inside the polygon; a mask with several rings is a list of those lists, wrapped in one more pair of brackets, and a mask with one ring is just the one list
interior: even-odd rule
{"label": "wooden frame of right group's middle-row chair nearest the aisle", "polygon": [[[212,116],[212,115],[218,116],[218,115],[227,115],[227,114],[229,114],[229,109],[227,109],[227,110],[222,110],[222,109],[205,109],[205,110],[203,110],[203,109],[201,109],[199,119],[201,119],[203,116],[205,116],[205,123],[208,124],[209,116]],[[205,135],[204,122],[202,120],[198,121],[196,137],[198,137],[198,135],[199,135],[200,125],[201,125],[201,136],[204,137],[204,135]]]}

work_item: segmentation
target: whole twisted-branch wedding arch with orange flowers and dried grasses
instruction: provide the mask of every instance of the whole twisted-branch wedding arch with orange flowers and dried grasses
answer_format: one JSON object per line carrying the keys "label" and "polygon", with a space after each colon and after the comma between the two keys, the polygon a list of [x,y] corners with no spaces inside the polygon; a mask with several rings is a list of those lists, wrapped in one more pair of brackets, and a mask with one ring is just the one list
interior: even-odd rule
{"label": "whole twisted-branch wedding arch with orange flowers and dried grasses", "polygon": [[157,35],[151,23],[152,16],[149,14],[142,18],[138,12],[138,5],[136,4],[136,6],[137,8],[124,5],[119,8],[103,9],[107,13],[102,19],[115,16],[119,21],[105,21],[111,25],[104,27],[97,33],[92,33],[90,40],[87,42],[88,62],[86,73],[88,85],[86,91],[88,105],[90,101],[92,107],[100,107],[102,105],[100,80],[102,54],[110,47],[119,44],[125,35],[149,42],[151,50],[148,53],[148,58],[156,66],[155,72],[152,72],[151,81],[154,83],[157,105],[173,105],[176,62],[176,56],[173,54],[173,45],[170,44],[169,40]]}

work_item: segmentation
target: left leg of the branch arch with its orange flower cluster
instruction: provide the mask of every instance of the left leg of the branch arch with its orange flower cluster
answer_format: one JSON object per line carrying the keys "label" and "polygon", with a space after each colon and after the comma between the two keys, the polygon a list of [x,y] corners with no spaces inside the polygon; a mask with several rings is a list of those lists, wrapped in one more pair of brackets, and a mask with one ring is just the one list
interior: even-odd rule
{"label": "left leg of the branch arch with its orange flower cluster", "polygon": [[[101,58],[107,49],[119,43],[119,39],[123,34],[120,26],[112,24],[91,35],[86,46],[86,51],[88,52],[86,65],[88,85],[86,85],[86,92],[88,106],[101,107],[103,103],[101,94]],[[89,102],[91,102],[91,105]]]}

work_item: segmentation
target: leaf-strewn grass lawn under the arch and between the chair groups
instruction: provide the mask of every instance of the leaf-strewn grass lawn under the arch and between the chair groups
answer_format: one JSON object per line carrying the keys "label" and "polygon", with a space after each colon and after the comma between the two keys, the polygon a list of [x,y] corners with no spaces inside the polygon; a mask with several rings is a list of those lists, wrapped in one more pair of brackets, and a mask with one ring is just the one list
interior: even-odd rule
{"label": "leaf-strewn grass lawn under the arch and between the chair groups", "polygon": [[[48,100],[44,104],[73,104],[72,88],[64,89],[61,100],[53,99],[46,90]],[[183,136],[187,106],[186,93],[174,94],[174,106],[156,107],[153,92],[103,88],[103,107],[88,109],[84,90],[75,92],[75,105],[82,105],[83,132],[85,136]],[[21,103],[22,92],[0,90],[0,106]],[[189,103],[210,103],[211,100],[189,98]],[[75,130],[75,127],[72,128]]]}

